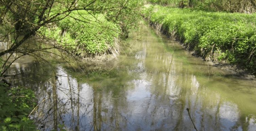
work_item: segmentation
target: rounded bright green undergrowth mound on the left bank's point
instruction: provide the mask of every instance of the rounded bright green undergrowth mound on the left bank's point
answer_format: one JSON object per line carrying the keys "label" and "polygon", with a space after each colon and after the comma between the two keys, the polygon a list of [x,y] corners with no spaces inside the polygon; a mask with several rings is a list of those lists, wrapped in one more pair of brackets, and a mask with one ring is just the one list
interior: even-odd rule
{"label": "rounded bright green undergrowth mound on the left bank's point", "polygon": [[56,40],[63,48],[81,57],[112,53],[120,34],[116,24],[102,14],[95,16],[84,10],[73,11],[53,27],[42,27],[46,37]]}

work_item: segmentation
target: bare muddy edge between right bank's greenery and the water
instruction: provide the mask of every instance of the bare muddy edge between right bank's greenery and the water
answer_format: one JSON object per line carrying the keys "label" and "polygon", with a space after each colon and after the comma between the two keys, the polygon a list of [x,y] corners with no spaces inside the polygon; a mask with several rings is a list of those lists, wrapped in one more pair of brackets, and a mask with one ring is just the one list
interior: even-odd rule
{"label": "bare muddy edge between right bank's greenery and the water", "polygon": [[[148,19],[145,19],[148,21]],[[215,66],[217,68],[220,68],[221,70],[227,72],[230,75],[236,76],[239,79],[248,79],[252,81],[256,81],[255,74],[252,74],[250,70],[246,70],[245,67],[242,64],[231,64],[224,60],[222,61],[216,61],[216,60],[206,60],[205,58],[202,58],[200,55],[198,55],[193,48],[189,47],[188,44],[185,44],[179,40],[179,37],[175,35],[175,31],[172,33],[168,33],[167,30],[163,28],[161,24],[149,22],[149,25],[152,26],[156,31],[159,31],[160,33],[166,35],[169,37],[170,40],[178,41],[180,45],[184,48],[184,50],[188,51],[191,55],[207,61],[210,65]]]}

